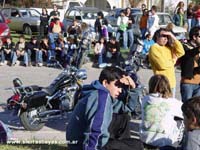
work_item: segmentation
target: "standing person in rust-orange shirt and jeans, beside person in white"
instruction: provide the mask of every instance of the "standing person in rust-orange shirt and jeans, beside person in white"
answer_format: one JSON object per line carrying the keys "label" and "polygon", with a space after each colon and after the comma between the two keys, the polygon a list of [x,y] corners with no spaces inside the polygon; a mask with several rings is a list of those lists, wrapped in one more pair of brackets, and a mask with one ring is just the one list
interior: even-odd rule
{"label": "standing person in rust-orange shirt and jeans, beside person in white", "polygon": [[142,39],[145,39],[145,33],[147,32],[147,20],[148,20],[148,10],[144,9],[140,19],[140,31],[142,34]]}

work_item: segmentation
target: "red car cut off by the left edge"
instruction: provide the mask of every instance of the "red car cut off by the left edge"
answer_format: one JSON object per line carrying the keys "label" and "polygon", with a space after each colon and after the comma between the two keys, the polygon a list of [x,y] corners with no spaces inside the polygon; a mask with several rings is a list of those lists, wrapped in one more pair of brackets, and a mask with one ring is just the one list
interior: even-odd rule
{"label": "red car cut off by the left edge", "polygon": [[9,19],[5,19],[2,13],[0,12],[0,39],[5,42],[7,37],[10,37],[10,28],[8,24],[10,23]]}

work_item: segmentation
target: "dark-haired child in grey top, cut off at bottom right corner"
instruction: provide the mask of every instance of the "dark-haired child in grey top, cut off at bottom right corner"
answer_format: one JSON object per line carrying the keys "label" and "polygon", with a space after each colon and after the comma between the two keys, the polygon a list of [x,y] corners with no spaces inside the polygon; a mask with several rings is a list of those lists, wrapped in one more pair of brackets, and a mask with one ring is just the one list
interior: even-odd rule
{"label": "dark-haired child in grey top, cut off at bottom right corner", "polygon": [[181,107],[186,128],[184,150],[200,150],[200,97],[193,97]]}

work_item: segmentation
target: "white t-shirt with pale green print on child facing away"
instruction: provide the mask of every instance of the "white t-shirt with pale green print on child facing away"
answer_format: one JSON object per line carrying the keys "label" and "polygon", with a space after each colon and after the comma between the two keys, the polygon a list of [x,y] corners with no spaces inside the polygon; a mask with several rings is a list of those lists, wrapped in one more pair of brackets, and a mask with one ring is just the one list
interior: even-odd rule
{"label": "white t-shirt with pale green print on child facing away", "polygon": [[178,127],[174,117],[183,118],[182,102],[175,98],[162,98],[150,94],[142,100],[141,140],[153,146],[173,146],[183,137],[183,122]]}

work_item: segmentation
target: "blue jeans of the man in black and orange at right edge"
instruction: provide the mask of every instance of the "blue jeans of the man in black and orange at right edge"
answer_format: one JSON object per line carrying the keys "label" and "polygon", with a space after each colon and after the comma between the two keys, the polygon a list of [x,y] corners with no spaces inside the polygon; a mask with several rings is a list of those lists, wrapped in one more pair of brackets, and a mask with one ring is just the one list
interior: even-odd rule
{"label": "blue jeans of the man in black and orange at right edge", "polygon": [[192,97],[200,96],[199,84],[181,83],[180,90],[181,90],[181,97],[182,97],[183,102],[187,101],[188,99]]}

